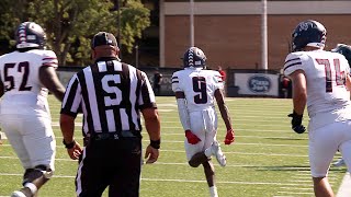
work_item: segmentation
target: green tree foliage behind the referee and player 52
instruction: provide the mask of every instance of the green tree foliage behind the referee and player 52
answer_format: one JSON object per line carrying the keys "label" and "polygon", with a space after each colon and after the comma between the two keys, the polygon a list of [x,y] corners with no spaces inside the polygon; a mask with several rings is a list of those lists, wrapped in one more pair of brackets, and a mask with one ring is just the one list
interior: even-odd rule
{"label": "green tree foliage behind the referee and player 52", "polygon": [[90,39],[101,31],[115,34],[123,51],[132,53],[135,38],[150,25],[149,10],[140,0],[120,0],[118,5],[109,0],[1,0],[0,39],[13,39],[19,23],[34,21],[45,28],[60,65],[89,63]]}

